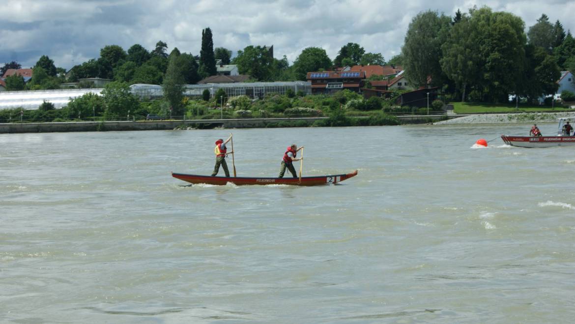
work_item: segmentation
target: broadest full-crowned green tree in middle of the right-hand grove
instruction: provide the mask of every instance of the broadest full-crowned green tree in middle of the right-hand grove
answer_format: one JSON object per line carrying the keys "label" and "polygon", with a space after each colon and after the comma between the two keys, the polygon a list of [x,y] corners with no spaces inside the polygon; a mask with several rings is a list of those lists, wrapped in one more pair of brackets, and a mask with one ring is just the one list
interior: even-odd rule
{"label": "broadest full-crowned green tree in middle of the right-hand grove", "polygon": [[[493,13],[488,7],[469,10],[453,26],[443,45],[444,73],[462,90],[467,86],[485,101],[507,101],[522,88],[526,35],[521,18]],[[406,72],[408,69],[406,68]]]}

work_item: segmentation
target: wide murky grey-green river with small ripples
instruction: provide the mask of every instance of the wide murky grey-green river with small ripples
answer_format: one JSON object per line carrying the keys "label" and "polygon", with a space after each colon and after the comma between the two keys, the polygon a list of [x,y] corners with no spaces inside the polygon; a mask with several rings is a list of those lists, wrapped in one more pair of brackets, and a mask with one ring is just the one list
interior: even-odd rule
{"label": "wide murky grey-green river with small ripples", "polygon": [[[575,148],[498,138],[529,128],[2,134],[0,322],[571,322]],[[292,143],[304,176],[358,176],[171,177],[210,174],[230,131],[238,176]]]}

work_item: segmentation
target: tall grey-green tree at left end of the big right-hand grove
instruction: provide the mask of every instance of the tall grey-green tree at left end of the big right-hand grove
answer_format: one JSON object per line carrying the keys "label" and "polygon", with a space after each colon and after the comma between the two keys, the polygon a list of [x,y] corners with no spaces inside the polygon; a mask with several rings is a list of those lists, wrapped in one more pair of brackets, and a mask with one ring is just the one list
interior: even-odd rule
{"label": "tall grey-green tree at left end of the big right-hand grove", "polygon": [[438,12],[428,10],[413,17],[401,48],[405,77],[413,86],[427,85],[430,77],[436,85],[443,83],[441,46],[450,28],[451,18]]}

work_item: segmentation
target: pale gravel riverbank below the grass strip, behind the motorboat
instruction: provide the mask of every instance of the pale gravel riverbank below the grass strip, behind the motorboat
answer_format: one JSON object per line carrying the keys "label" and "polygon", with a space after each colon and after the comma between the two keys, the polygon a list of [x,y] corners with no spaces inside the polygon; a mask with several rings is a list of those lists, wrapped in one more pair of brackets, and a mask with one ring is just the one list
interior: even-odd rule
{"label": "pale gravel riverbank below the grass strip, behind the motorboat", "polygon": [[438,121],[433,124],[451,125],[451,124],[557,123],[557,119],[562,117],[575,117],[575,112],[477,114],[477,115],[466,115],[462,117],[455,117],[448,120]]}

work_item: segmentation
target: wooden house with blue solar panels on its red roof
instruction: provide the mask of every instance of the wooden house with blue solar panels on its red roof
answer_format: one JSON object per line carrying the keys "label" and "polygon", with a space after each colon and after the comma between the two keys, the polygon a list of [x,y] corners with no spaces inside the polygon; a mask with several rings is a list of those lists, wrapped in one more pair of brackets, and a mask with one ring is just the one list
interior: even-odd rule
{"label": "wooden house with blue solar panels on its red roof", "polygon": [[329,94],[343,89],[360,93],[364,86],[365,71],[308,72],[306,79],[312,85],[312,94]]}

